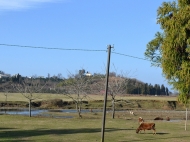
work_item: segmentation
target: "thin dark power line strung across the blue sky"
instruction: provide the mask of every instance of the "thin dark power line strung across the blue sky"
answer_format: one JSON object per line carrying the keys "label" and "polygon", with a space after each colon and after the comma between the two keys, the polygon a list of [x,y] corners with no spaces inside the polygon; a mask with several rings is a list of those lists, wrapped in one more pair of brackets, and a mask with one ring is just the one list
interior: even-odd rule
{"label": "thin dark power line strung across the blue sky", "polygon": [[[16,44],[0,44],[0,46],[12,46],[12,47],[22,47],[22,48],[38,48],[38,49],[46,49],[46,50],[75,50],[75,51],[92,51],[92,52],[105,52],[107,50],[93,50],[93,49],[72,49],[72,48],[49,48],[49,47],[42,47],[42,46],[28,46],[28,45],[16,45]],[[135,57],[127,54],[122,54],[122,53],[117,53],[117,52],[111,52],[114,54],[118,54],[121,56],[127,56],[131,58],[136,58],[140,60],[146,60],[150,61],[148,59],[140,58],[140,57]]]}

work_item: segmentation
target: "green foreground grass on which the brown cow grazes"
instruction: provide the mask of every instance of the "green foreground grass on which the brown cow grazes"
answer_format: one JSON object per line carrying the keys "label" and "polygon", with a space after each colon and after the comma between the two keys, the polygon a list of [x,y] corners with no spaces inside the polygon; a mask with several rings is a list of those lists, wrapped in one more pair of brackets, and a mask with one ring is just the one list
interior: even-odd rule
{"label": "green foreground grass on which the brown cow grazes", "polygon": [[[101,141],[102,114],[86,114],[82,119],[55,119],[0,115],[2,142],[97,142]],[[153,120],[149,120],[153,122]],[[155,121],[157,135],[152,130],[136,134],[137,117],[115,118],[107,115],[105,142],[189,142],[190,125],[184,130],[184,121]]]}

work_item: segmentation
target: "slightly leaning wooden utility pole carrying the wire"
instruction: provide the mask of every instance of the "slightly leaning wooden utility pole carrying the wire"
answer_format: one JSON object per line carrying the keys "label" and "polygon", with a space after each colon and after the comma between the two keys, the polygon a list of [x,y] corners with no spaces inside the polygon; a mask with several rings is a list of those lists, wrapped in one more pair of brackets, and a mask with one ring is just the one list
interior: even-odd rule
{"label": "slightly leaning wooden utility pole carrying the wire", "polygon": [[104,131],[105,131],[105,120],[106,120],[106,104],[107,104],[107,94],[108,94],[108,80],[109,80],[109,68],[110,68],[110,56],[111,56],[111,45],[108,45],[108,59],[107,59],[107,70],[106,70],[106,86],[105,86],[105,98],[104,98],[104,109],[102,118],[102,133],[101,142],[104,142]]}

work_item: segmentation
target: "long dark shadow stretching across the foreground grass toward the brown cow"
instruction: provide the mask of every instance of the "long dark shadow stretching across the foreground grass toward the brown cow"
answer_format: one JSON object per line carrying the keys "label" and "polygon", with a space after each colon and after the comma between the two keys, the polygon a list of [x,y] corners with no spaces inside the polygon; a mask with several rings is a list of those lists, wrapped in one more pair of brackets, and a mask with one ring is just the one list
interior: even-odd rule
{"label": "long dark shadow stretching across the foreground grass toward the brown cow", "polygon": [[[11,128],[0,128],[0,141],[1,139],[14,139],[14,138],[24,138],[33,136],[43,136],[43,135],[70,135],[77,133],[99,133],[100,128],[78,128],[78,129],[35,129],[35,130],[9,130]],[[5,130],[5,131],[3,131]],[[105,132],[122,131],[122,130],[133,130],[134,129],[115,129],[106,128]],[[10,140],[9,140],[10,142]],[[16,141],[12,141],[16,142]]]}

